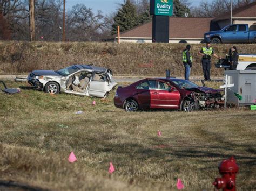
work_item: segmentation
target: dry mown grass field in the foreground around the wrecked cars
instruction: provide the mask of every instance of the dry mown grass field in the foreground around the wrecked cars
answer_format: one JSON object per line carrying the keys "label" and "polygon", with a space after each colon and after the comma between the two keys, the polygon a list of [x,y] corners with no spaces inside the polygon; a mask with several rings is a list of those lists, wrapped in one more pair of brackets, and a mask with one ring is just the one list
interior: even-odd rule
{"label": "dry mown grass field in the foreground around the wrecked cars", "polygon": [[[219,162],[234,155],[238,190],[256,188],[255,111],[127,113],[114,107],[113,96],[0,93],[0,182],[50,190],[177,190],[180,178],[185,190],[213,190]],[[73,164],[71,151],[78,159]]]}

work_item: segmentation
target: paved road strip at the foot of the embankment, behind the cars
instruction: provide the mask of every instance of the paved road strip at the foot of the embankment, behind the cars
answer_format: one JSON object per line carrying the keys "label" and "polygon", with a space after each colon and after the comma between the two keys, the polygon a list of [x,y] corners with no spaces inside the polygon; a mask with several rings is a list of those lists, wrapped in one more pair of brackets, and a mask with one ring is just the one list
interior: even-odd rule
{"label": "paved road strip at the foot of the embankment, behind the cars", "polygon": [[[23,79],[26,79],[26,75],[0,75],[0,80],[14,80],[16,77],[21,77]],[[136,82],[139,80],[142,80],[145,76],[143,77],[125,77],[125,76],[113,76],[114,80],[117,82]],[[177,77],[183,79],[183,77]],[[201,81],[203,80],[203,77],[190,77],[191,81]],[[212,77],[213,81],[223,81],[224,77]]]}

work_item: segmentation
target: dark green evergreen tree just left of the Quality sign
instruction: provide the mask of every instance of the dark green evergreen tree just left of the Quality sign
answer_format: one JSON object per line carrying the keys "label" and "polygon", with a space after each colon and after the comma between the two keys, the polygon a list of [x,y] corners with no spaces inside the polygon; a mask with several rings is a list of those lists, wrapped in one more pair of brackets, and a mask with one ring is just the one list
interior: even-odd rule
{"label": "dark green evergreen tree just left of the Quality sign", "polygon": [[117,15],[113,18],[112,34],[117,33],[117,26],[120,26],[120,32],[132,29],[139,24],[136,7],[127,0],[125,4],[121,5]]}

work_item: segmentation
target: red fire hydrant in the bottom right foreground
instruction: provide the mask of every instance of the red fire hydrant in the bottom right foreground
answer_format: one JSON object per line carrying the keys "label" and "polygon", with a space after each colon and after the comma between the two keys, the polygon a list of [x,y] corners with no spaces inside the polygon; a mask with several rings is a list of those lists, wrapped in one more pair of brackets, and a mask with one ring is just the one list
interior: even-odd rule
{"label": "red fire hydrant in the bottom right foreground", "polygon": [[222,178],[216,178],[212,184],[217,189],[223,189],[223,191],[235,191],[235,175],[238,173],[238,170],[239,167],[235,163],[234,157],[223,160],[219,164],[219,173],[222,175]]}

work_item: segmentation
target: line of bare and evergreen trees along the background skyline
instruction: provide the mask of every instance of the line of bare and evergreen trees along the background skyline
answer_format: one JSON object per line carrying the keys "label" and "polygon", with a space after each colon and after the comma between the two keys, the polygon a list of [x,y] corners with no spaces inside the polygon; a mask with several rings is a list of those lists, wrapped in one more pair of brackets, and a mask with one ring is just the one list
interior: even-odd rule
{"label": "line of bare and evergreen trees along the background skyline", "polygon": [[[29,40],[28,1],[0,0],[0,40]],[[233,0],[233,9],[255,1]],[[190,0],[173,0],[173,4],[174,17],[216,17],[231,9],[231,0],[202,0],[196,7]],[[117,26],[123,32],[152,19],[149,0],[124,0],[118,6],[112,15],[95,13],[85,4],[73,6],[66,11],[66,40],[110,39],[117,33]],[[63,0],[37,0],[35,18],[37,40],[62,40]]]}

